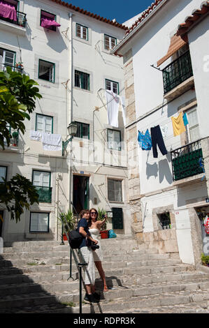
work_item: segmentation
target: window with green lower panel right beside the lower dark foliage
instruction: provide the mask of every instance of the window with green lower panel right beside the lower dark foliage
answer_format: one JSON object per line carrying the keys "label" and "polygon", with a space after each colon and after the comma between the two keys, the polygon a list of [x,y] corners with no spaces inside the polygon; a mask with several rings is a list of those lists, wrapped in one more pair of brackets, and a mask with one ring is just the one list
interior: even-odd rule
{"label": "window with green lower panel right beside the lower dark foliage", "polygon": [[39,195],[39,202],[52,202],[51,172],[33,171],[33,185]]}

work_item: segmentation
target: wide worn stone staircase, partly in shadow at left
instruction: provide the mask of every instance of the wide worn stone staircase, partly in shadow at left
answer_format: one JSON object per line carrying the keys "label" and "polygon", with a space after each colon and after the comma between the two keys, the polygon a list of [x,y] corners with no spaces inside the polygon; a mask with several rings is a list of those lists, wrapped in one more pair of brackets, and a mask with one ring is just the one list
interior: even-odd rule
{"label": "wide worn stone staircase, partly in shadow at left", "polygon": [[[82,304],[82,313],[209,313],[209,273],[138,245],[131,236],[101,239],[101,245],[111,289],[102,292],[95,270],[101,301]],[[74,261],[72,273],[74,280],[67,242],[15,242],[3,248],[0,313],[79,313]]]}

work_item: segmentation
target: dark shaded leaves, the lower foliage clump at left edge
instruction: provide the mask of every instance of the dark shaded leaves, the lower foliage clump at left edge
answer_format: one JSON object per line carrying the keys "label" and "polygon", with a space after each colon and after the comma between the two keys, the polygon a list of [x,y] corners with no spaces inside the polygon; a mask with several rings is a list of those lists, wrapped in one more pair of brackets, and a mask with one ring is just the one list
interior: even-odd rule
{"label": "dark shaded leaves, the lower foliage clump at left edge", "polygon": [[34,202],[38,203],[38,193],[29,179],[20,174],[15,174],[10,181],[3,179],[0,184],[0,204],[6,204],[12,220],[20,221],[24,207],[29,209],[29,205]]}

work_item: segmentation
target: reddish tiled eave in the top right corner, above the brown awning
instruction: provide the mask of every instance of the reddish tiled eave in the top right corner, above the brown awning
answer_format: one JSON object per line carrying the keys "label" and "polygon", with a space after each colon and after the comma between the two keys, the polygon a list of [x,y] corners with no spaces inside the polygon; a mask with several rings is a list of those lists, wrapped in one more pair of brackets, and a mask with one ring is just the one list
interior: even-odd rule
{"label": "reddish tiled eave in the top right corner, above the brown awning", "polygon": [[209,13],[209,1],[204,1],[201,4],[201,9],[195,9],[191,16],[185,18],[185,22],[178,25],[177,35],[182,36],[191,29],[194,24],[198,23],[201,18],[208,15]]}

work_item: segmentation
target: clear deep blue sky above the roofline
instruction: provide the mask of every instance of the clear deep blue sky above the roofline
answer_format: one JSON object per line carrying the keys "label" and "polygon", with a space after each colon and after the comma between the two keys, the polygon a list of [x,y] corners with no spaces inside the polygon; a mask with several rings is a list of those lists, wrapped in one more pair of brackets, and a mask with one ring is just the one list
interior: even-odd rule
{"label": "clear deep blue sky above the roofline", "polygon": [[[122,24],[147,9],[153,0],[64,0],[108,20]],[[131,6],[130,6],[131,3]]]}

